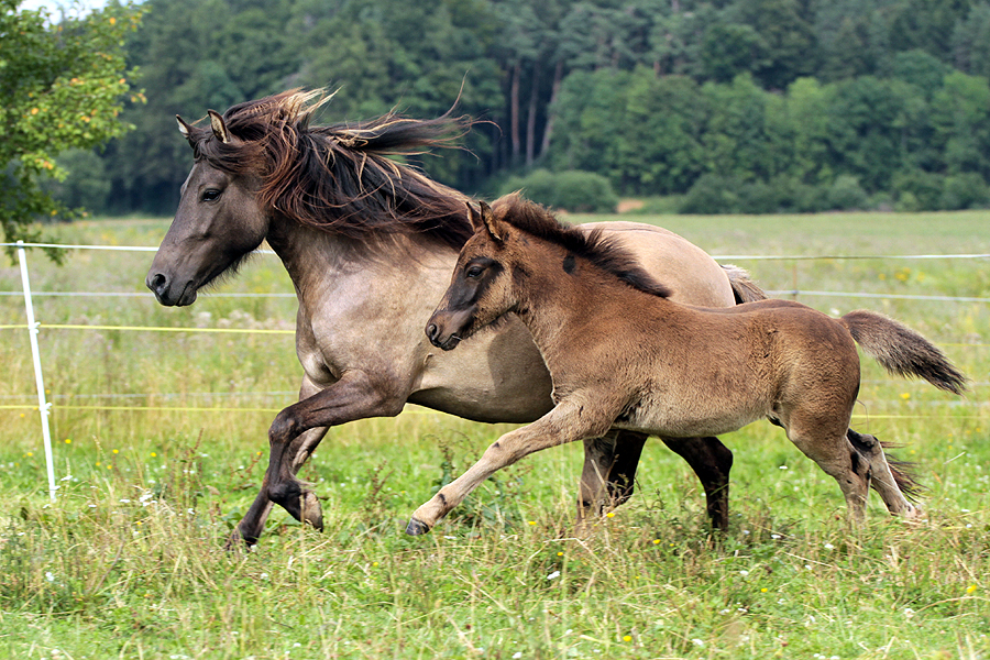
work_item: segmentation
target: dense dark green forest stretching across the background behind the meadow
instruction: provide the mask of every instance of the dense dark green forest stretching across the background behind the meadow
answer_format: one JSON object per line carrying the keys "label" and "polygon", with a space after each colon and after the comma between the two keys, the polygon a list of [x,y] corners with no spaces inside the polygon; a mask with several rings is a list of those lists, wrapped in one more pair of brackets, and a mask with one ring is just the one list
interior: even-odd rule
{"label": "dense dark green forest stretching across the background behind the meadow", "polygon": [[[170,213],[198,119],[290,87],[326,121],[488,120],[427,172],[494,195],[584,170],[688,212],[990,206],[987,0],[146,0],[146,102],[64,155],[70,201]],[[520,179],[520,177],[524,177]],[[549,178],[548,178],[549,177]],[[510,179],[510,182],[509,182]]]}

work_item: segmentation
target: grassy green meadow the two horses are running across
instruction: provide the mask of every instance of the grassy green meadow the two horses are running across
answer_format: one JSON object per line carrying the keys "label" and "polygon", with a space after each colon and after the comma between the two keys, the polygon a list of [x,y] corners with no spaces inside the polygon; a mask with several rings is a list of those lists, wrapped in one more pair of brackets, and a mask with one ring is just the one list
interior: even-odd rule
{"label": "grassy green meadow the two horses are running across", "polygon": [[[512,427],[408,406],[333,429],[304,468],[323,534],[279,509],[255,551],[227,552],[267,426],[301,376],[279,262],[258,255],[166,309],[134,295],[151,253],[76,250],[55,266],[33,251],[35,292],[120,295],[35,298],[54,503],[28,333],[0,328],[0,657],[990,658],[990,268],[891,256],[990,253],[990,213],[636,219],[733,256],[768,290],[832,314],[877,309],[944,348],[972,380],[965,399],[865,361],[854,419],[916,463],[924,520],[889,517],[875,495],[850,529],[834,481],[758,422],[723,438],[735,452],[725,536],[707,530],[693,473],[653,440],[636,495],[587,535],[573,532],[581,448],[562,447],[411,538],[409,514]],[[56,231],[157,245],[166,228]],[[872,258],[835,258],[848,255]],[[20,292],[9,260],[0,292]],[[268,293],[282,295],[240,296]],[[961,299],[924,298],[947,296]],[[24,322],[23,299],[0,296],[0,327]]]}

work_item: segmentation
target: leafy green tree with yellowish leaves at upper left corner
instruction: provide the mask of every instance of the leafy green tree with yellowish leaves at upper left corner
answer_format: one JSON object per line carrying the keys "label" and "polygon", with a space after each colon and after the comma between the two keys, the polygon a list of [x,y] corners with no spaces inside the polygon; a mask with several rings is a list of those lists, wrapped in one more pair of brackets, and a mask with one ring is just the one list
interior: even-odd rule
{"label": "leafy green tree with yellowish leaves at upper left corner", "polygon": [[56,163],[69,148],[91,148],[124,133],[119,114],[131,92],[123,41],[141,20],[133,4],[112,4],[54,22],[46,10],[0,0],[0,226],[7,241],[36,240],[38,219],[73,212],[40,188],[62,180]]}

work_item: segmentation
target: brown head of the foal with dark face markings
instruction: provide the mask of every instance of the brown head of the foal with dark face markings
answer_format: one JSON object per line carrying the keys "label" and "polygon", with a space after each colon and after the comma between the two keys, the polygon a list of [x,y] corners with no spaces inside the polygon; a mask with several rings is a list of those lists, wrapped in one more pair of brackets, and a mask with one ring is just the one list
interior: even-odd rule
{"label": "brown head of the foal with dark face markings", "polygon": [[430,342],[444,351],[515,306],[510,282],[514,228],[496,218],[485,202],[479,212],[469,204],[468,217],[474,235],[461,250],[450,287],[426,328]]}

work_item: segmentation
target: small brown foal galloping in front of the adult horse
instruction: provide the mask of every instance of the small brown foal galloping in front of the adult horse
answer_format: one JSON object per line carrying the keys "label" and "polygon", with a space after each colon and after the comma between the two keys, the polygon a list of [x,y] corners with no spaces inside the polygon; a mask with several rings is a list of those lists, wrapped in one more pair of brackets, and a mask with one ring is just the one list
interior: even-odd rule
{"label": "small brown foal galloping in front of the adult horse", "polygon": [[917,515],[880,442],[847,430],[857,342],[891,373],[964,392],[965,376],[921,334],[879,314],[833,319],[787,300],[680,305],[600,232],[563,226],[518,196],[494,206],[471,210],[475,233],[427,336],[452,350],[515,312],[547,363],[556,405],[416,509],[408,534],[429,531],[494,472],[548,447],[610,429],[717,436],[761,417],[838,482],[854,520],[864,518],[870,487],[892,514]]}

